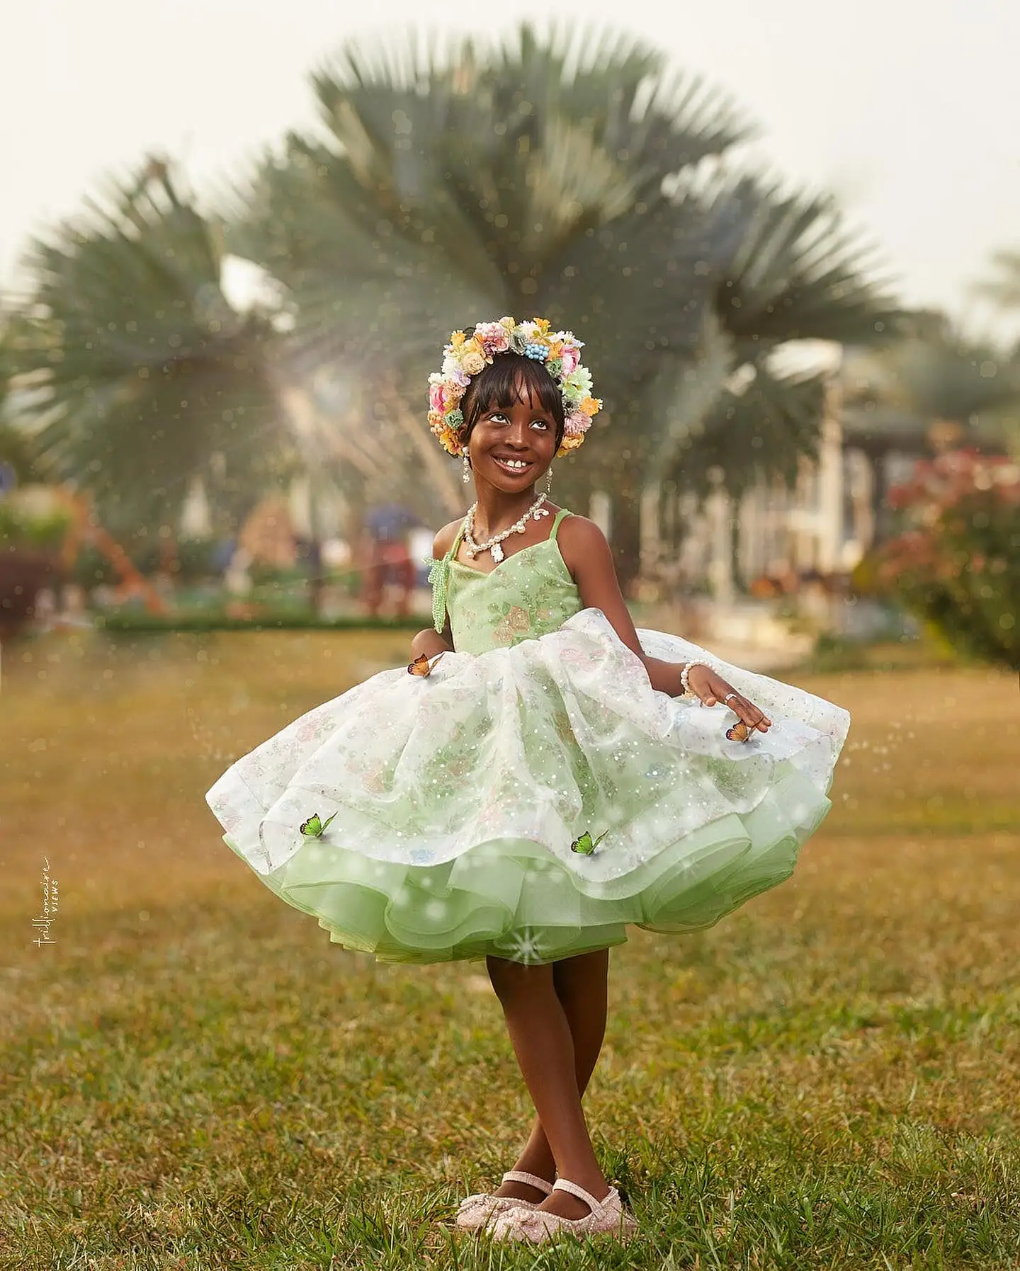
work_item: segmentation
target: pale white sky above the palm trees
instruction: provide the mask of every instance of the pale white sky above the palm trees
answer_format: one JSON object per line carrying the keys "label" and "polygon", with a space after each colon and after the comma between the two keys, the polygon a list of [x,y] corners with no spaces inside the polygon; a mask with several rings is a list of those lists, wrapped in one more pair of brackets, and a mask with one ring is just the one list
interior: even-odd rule
{"label": "pale white sky above the palm trees", "polygon": [[351,33],[481,33],[483,18],[514,27],[541,11],[642,34],[729,90],[759,122],[755,154],[834,191],[908,304],[993,329],[967,289],[996,248],[1020,248],[1015,0],[11,3],[0,44],[0,287],[23,281],[29,234],[149,150],[183,160],[202,194],[237,178],[262,144],[314,117],[308,72]]}

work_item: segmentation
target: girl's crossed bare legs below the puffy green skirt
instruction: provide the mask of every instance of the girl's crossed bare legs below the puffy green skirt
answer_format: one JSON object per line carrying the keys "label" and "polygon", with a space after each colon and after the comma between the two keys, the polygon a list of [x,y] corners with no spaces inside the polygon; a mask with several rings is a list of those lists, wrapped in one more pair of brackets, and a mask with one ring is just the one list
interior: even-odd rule
{"label": "girl's crossed bare legs below the puffy green skirt", "polygon": [[[521,966],[490,957],[487,966],[538,1112],[514,1168],[549,1182],[558,1172],[561,1178],[570,1178],[602,1199],[609,1185],[591,1148],[581,1094],[605,1036],[609,951],[581,953],[551,966]],[[543,1200],[527,1183],[504,1183],[496,1195]],[[543,1201],[542,1209],[563,1218],[588,1213],[584,1201],[569,1192],[556,1192]]]}

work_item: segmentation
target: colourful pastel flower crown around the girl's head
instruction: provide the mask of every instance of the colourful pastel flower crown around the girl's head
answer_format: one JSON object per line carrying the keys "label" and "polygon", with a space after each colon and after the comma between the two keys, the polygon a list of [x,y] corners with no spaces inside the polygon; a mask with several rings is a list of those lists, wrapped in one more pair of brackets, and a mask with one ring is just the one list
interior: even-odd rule
{"label": "colourful pastel flower crown around the girl's head", "polygon": [[584,347],[570,330],[549,330],[546,318],[515,323],[513,318],[479,322],[471,336],[455,330],[443,350],[443,370],[429,376],[429,427],[450,455],[463,454],[460,402],[473,376],[491,366],[500,353],[523,353],[542,362],[563,395],[563,440],[556,458],[576,450],[602,402],[591,397],[591,372],[581,366]]}

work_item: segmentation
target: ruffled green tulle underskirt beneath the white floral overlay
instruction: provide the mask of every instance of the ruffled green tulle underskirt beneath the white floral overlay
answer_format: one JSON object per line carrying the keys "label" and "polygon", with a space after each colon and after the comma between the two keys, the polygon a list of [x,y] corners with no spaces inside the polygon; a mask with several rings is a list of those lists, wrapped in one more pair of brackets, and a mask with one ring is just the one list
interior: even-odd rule
{"label": "ruffled green tulle underskirt beneath the white floral overlay", "polygon": [[[259,877],[286,904],[318,918],[333,943],[380,962],[492,955],[539,965],[623,944],[628,924],[670,934],[711,927],[790,877],[829,806],[787,766],[752,811],[687,831],[630,873],[586,890],[524,839],[491,840],[429,866],[376,860],[322,841]],[[247,859],[229,835],[224,840]]]}

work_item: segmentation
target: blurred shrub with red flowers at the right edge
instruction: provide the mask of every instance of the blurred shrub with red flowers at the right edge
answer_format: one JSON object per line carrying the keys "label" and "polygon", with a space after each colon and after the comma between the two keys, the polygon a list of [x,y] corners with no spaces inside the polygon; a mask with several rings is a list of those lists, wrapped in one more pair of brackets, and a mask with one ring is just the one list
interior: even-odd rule
{"label": "blurred shrub with red flowers at the right edge", "polygon": [[878,580],[954,648],[1020,670],[1020,464],[954,450],[889,492],[906,533]]}

